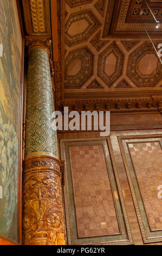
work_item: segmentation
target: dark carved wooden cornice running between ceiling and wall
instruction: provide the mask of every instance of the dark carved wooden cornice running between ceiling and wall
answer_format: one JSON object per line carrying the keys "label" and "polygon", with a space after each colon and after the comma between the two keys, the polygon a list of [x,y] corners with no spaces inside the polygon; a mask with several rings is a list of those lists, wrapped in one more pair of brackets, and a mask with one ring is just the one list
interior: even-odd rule
{"label": "dark carved wooden cornice running between ceiling and wall", "polygon": [[[157,92],[156,92],[157,93]],[[125,93],[126,94],[126,93]],[[152,92],[153,94],[153,92]],[[87,94],[86,94],[87,95]],[[88,96],[79,95],[71,97],[67,95],[67,99],[63,100],[62,105],[57,105],[57,110],[63,112],[63,107],[69,107],[70,111],[110,111],[111,113],[162,113],[162,95],[150,95],[149,92],[145,92],[142,97],[138,94],[120,94],[114,95],[109,93],[109,96],[100,94],[97,99],[93,99],[93,94]]]}

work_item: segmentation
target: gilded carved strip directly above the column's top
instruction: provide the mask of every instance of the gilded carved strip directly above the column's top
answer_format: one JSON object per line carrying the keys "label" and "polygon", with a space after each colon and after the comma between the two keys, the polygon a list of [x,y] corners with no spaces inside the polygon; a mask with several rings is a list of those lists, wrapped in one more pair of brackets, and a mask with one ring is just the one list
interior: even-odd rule
{"label": "gilded carved strip directly above the column's top", "polygon": [[44,0],[30,0],[30,13],[34,33],[46,31],[44,20]]}

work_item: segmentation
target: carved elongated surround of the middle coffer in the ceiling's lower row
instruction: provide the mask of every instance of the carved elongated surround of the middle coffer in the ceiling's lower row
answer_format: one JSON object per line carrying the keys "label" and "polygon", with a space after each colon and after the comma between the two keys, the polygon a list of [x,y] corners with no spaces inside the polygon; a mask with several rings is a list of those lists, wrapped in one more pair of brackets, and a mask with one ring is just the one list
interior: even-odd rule
{"label": "carved elongated surround of the middle coffer in the ceiling's lower row", "polygon": [[[112,74],[106,71],[106,65],[108,64],[107,58],[111,54],[113,54],[113,58],[116,58],[116,65]],[[122,75],[123,64],[124,54],[121,52],[116,43],[113,42],[99,56],[98,76],[107,84],[108,87],[111,87],[113,83]]]}

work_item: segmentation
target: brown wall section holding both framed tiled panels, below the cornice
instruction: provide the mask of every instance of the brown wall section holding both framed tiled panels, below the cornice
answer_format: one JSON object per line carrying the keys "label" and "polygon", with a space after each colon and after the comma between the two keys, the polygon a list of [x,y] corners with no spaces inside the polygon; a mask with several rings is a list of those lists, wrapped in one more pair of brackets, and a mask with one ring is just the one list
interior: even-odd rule
{"label": "brown wall section holding both framed tiled panels, below the cornice", "polygon": [[68,244],[161,245],[161,132],[59,135]]}

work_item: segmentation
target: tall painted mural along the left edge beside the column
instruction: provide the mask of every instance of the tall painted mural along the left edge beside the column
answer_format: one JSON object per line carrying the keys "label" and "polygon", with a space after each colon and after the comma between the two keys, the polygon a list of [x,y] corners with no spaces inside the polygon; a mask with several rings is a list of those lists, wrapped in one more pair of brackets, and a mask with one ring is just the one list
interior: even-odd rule
{"label": "tall painted mural along the left edge beside the column", "polygon": [[22,51],[16,0],[0,0],[0,44],[0,235],[16,241]]}

